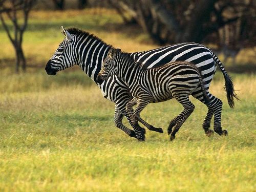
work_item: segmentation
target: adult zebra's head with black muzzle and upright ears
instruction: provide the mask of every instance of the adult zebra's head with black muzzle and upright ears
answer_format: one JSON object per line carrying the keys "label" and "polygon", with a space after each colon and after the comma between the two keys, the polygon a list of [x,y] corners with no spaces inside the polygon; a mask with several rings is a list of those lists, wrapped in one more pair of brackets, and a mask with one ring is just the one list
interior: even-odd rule
{"label": "adult zebra's head with black muzzle and upright ears", "polygon": [[61,26],[61,33],[65,36],[64,40],[59,44],[58,49],[52,58],[46,64],[46,72],[48,75],[56,75],[58,71],[70,68],[76,64],[75,51],[73,42],[75,36],[70,34]]}

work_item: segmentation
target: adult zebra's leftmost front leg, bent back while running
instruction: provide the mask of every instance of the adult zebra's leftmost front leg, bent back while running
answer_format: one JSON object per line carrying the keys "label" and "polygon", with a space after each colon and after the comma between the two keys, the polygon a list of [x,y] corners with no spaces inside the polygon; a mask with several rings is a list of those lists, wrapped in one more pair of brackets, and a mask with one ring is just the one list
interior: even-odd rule
{"label": "adult zebra's leftmost front leg, bent back while running", "polygon": [[115,115],[114,115],[115,125],[120,130],[122,130],[124,133],[129,135],[130,137],[135,137],[136,138],[135,132],[133,130],[130,130],[126,126],[124,126],[123,123],[122,123],[122,119],[123,119],[123,114],[120,112],[120,110],[118,109],[117,105],[115,105]]}

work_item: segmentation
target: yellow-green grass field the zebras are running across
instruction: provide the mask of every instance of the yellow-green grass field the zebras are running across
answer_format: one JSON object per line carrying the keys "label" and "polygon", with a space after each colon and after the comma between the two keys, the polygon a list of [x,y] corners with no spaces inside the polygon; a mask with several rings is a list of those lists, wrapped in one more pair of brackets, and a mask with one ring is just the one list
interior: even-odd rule
{"label": "yellow-green grass field the zebras are running across", "polygon": [[204,135],[207,108],[192,98],[196,109],[173,142],[166,129],[182,110],[175,100],[143,110],[141,116],[165,133],[147,131],[146,141],[137,142],[115,127],[114,103],[82,71],[45,73],[43,63],[62,39],[59,26],[74,21],[126,51],[157,47],[142,33],[115,30],[121,19],[112,12],[98,12],[32,12],[24,48],[33,68],[21,74],[6,67],[12,48],[0,28],[0,191],[255,191],[255,74],[231,74],[241,99],[233,110],[222,74],[211,84],[224,103],[228,137]]}

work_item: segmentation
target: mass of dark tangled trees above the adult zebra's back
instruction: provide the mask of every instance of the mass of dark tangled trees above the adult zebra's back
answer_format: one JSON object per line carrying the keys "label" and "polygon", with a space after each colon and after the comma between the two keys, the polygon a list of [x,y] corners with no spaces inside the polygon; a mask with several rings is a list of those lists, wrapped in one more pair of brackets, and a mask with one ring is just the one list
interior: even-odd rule
{"label": "mass of dark tangled trees above the adult zebra's back", "polygon": [[139,24],[158,44],[213,42],[226,50],[256,46],[254,0],[109,0],[109,3],[125,23]]}

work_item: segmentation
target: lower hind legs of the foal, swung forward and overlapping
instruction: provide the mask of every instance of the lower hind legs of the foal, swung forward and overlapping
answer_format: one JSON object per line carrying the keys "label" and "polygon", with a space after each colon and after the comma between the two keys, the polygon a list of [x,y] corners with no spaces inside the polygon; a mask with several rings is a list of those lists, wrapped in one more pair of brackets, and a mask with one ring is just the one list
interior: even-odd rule
{"label": "lower hind legs of the foal, swung forward and overlapping", "polygon": [[177,117],[170,121],[168,126],[168,134],[170,134],[171,141],[175,139],[175,134],[179,131],[181,125],[195,109],[195,105],[189,101],[188,96],[179,97],[175,95],[174,98],[182,104],[184,109]]}

